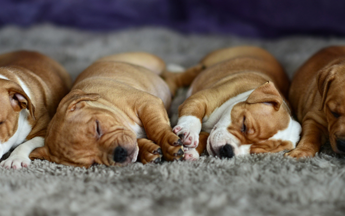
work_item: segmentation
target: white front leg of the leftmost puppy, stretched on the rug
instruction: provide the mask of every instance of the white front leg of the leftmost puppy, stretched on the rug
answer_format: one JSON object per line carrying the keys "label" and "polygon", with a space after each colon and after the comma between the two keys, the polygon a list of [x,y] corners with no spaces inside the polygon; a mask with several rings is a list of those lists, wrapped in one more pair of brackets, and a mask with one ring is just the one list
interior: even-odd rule
{"label": "white front leg of the leftmost puppy, stretched on the rug", "polygon": [[44,146],[43,137],[34,137],[31,140],[26,141],[23,144],[20,144],[13,150],[10,157],[0,163],[0,166],[5,167],[6,169],[14,168],[21,169],[22,167],[28,167],[31,163],[29,159],[30,153],[38,147]]}

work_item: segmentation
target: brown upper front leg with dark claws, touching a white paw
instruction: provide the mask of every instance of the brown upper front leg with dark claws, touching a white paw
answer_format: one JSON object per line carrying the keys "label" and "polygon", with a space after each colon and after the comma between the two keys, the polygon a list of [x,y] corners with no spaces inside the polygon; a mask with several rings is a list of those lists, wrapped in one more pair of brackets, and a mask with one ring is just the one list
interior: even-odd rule
{"label": "brown upper front leg with dark claws, touching a white paw", "polygon": [[163,101],[152,96],[150,101],[141,103],[137,113],[147,138],[162,148],[163,158],[167,161],[182,160],[182,142],[172,131]]}

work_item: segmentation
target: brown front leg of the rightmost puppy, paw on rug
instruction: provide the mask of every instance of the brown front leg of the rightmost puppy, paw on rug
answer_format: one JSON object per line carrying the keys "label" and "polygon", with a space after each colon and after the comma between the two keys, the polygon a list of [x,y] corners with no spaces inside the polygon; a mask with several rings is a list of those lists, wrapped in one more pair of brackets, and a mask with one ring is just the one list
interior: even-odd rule
{"label": "brown front leg of the rightmost puppy, paw on rug", "polygon": [[297,147],[291,152],[285,153],[285,156],[293,158],[314,157],[316,152],[320,151],[323,131],[325,131],[324,126],[314,120],[303,122],[301,140]]}

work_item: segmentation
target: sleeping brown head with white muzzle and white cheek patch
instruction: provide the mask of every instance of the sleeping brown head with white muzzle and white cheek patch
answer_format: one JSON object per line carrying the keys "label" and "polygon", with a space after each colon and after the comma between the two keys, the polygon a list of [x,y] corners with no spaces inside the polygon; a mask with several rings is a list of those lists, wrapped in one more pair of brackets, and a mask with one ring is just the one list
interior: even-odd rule
{"label": "sleeping brown head with white muzzle and white cheek patch", "polygon": [[207,140],[210,155],[231,158],[294,148],[301,126],[291,118],[272,82],[237,97],[211,130]]}

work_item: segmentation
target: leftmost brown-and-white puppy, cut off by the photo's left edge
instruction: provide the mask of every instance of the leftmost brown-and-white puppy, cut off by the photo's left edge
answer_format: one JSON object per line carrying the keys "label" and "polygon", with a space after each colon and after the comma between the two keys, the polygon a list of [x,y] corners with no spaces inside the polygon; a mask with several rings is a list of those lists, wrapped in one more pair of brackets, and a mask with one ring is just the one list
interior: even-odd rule
{"label": "leftmost brown-and-white puppy, cut off by the photo's left edge", "polygon": [[43,54],[0,55],[0,158],[20,144],[1,166],[19,169],[30,164],[30,152],[44,145],[49,121],[70,87],[69,74]]}

